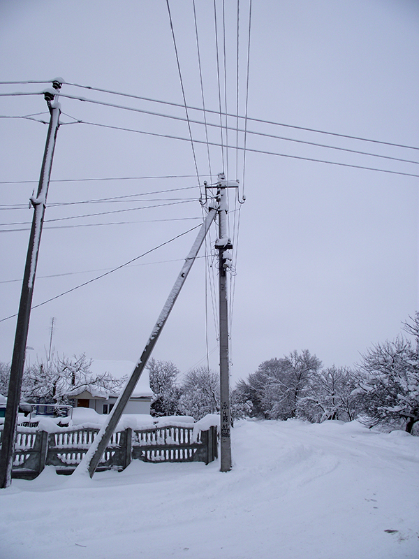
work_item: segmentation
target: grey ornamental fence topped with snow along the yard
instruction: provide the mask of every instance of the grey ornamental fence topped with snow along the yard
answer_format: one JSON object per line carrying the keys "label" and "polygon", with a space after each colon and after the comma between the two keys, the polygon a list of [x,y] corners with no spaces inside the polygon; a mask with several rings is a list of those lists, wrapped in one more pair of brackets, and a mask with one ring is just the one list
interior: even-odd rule
{"label": "grey ornamental fence topped with snow along the yard", "polygon": [[[63,428],[54,433],[32,427],[17,428],[12,477],[34,479],[45,465],[71,474],[98,433],[97,428]],[[2,436],[0,430],[0,442]],[[193,433],[193,426],[126,428],[112,435],[97,471],[124,470],[131,459],[144,462],[205,462],[218,456],[217,429]]]}

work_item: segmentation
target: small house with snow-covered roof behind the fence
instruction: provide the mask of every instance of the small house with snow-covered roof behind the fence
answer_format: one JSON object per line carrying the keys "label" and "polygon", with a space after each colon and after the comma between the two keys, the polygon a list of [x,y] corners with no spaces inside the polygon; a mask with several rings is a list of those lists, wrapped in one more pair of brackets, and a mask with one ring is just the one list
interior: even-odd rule
{"label": "small house with snow-covered roof behind the fence", "polygon": [[[102,361],[95,359],[91,362],[90,372],[92,378],[109,373],[113,378],[124,381],[124,379],[131,376],[134,368],[135,363],[131,361]],[[94,409],[98,414],[109,414],[124,386],[125,382],[122,382],[118,389],[85,384],[76,391],[70,389],[68,391],[68,399],[73,400],[74,407],[88,407]],[[147,369],[144,369],[131,398],[128,400],[124,414],[149,414],[152,398],[153,393],[149,384],[149,372]]]}

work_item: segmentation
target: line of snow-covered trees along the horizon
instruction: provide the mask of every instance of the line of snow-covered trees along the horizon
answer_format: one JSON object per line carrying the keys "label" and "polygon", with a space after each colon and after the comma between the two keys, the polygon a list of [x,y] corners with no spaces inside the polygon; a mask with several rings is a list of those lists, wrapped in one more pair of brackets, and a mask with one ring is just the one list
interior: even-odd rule
{"label": "line of snow-covered trees along the horizon", "polygon": [[[323,368],[308,349],[260,363],[258,370],[231,391],[232,418],[286,419],[311,422],[330,419],[366,425],[402,427],[412,433],[419,422],[419,312],[403,326],[406,334],[373,345],[353,368]],[[110,373],[92,375],[84,354],[53,355],[24,372],[22,398],[28,402],[68,403],[71,392],[100,388],[117,393],[124,379]],[[154,393],[154,416],[190,415],[201,419],[219,413],[219,375],[205,367],[181,375],[171,361],[147,363]],[[0,393],[7,394],[10,366],[0,363]]]}

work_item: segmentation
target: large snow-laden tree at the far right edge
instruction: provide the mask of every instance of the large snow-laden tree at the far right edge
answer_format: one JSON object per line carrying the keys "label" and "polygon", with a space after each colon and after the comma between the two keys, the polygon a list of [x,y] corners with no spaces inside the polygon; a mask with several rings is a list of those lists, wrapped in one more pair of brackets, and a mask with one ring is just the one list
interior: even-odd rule
{"label": "large snow-laden tree at the far right edge", "polygon": [[[418,326],[418,314],[412,328]],[[418,349],[409,340],[376,344],[358,366],[358,395],[370,425],[403,421],[411,433],[419,421]]]}

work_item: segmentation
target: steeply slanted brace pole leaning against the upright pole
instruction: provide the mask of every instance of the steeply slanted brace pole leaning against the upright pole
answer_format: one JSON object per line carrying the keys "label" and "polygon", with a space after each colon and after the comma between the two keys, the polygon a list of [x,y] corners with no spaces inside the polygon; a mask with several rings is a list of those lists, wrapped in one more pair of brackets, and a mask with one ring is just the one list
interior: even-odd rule
{"label": "steeply slanted brace pole leaning against the upright pole", "polygon": [[84,455],[82,462],[78,465],[76,471],[83,472],[87,470],[87,472],[89,472],[89,476],[93,477],[94,472],[96,471],[96,467],[98,467],[98,463],[101,460],[106,447],[108,446],[110,437],[112,437],[112,434],[115,431],[118,421],[119,419],[121,419],[121,416],[124,412],[125,406],[129,398],[131,397],[133,390],[135,389],[135,385],[137,384],[138,379],[142,374],[142,371],[145,369],[145,365],[147,365],[147,361],[149,360],[149,357],[152,354],[154,345],[159,339],[159,335],[163,330],[163,326],[166,324],[170,311],[172,310],[173,305],[175,305],[177,296],[179,295],[180,290],[182,289],[182,286],[186,280],[186,277],[188,276],[189,271],[191,270],[192,264],[195,261],[196,256],[198,255],[199,249],[203,244],[205,235],[207,235],[207,232],[209,231],[210,226],[212,222],[214,222],[215,218],[216,218],[216,208],[210,208],[207,217],[205,218],[205,222],[201,226],[198,236],[195,242],[193,243],[188,256],[186,256],[185,263],[182,266],[182,270],[180,270],[180,273],[177,276],[175,285],[172,287],[172,291],[170,291],[170,295],[168,296],[168,299],[166,300],[166,304],[164,305],[163,310],[161,311],[160,316],[157,319],[157,322],[153,328],[153,331],[149,337],[145,349],[144,351],[142,351],[140,359],[138,360],[135,369],[131,373],[131,377],[128,379],[128,382],[126,383],[124,390],[119,395],[119,398],[115,403],[115,406],[112,408],[112,412],[110,413],[108,419],[103,424],[99,433],[96,435],[96,439],[94,440],[93,444],[91,445],[87,453]]}

